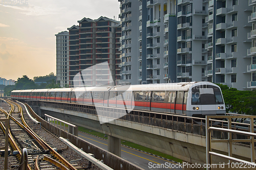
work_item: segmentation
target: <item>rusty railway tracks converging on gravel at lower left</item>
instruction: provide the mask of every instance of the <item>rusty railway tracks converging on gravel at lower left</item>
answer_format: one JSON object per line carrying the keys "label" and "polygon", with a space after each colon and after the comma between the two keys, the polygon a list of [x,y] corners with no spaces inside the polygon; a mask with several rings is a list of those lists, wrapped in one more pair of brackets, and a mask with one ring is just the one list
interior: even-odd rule
{"label": "rusty railway tracks converging on gravel at lower left", "polygon": [[[48,144],[44,137],[38,136],[30,127],[38,127],[30,118],[25,117],[23,108],[16,102],[6,100],[10,105],[9,112],[0,108],[0,117],[10,119],[10,129],[6,130],[1,123],[2,132],[0,139],[4,138],[4,133],[9,132],[9,147],[14,157],[9,159],[11,167],[21,169],[72,169],[76,170],[77,164],[71,164],[64,159],[54,145]],[[2,137],[3,136],[3,137]],[[2,142],[1,142],[2,143]],[[81,168],[81,167],[79,167]]]}

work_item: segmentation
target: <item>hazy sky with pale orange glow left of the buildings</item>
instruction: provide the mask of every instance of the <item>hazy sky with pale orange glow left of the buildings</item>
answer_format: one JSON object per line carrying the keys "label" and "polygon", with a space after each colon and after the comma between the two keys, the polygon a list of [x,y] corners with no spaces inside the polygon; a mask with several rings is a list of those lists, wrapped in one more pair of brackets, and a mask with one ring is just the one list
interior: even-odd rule
{"label": "hazy sky with pale orange glow left of the buildings", "polygon": [[78,25],[83,17],[118,20],[120,13],[118,0],[8,2],[12,4],[0,0],[0,77],[13,80],[56,74],[55,34]]}

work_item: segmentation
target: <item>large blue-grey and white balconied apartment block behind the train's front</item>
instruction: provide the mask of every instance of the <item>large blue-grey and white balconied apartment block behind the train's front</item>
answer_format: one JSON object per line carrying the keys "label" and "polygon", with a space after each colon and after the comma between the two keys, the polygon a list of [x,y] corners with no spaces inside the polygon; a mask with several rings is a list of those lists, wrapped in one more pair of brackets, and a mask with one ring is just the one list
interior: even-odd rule
{"label": "large blue-grey and white balconied apartment block behind the train's front", "polygon": [[[122,80],[132,84],[210,81],[240,90],[253,87],[247,87],[247,82],[254,85],[255,81],[255,63],[250,56],[254,46],[247,33],[252,32],[253,38],[254,0],[249,0],[249,5],[244,0],[119,2],[121,69],[132,75],[131,80],[122,74]],[[138,44],[135,35],[139,35]],[[247,55],[249,48],[252,54]],[[132,52],[131,70],[126,68],[129,63],[125,61],[130,61],[127,52]],[[139,62],[133,60],[136,56]]]}

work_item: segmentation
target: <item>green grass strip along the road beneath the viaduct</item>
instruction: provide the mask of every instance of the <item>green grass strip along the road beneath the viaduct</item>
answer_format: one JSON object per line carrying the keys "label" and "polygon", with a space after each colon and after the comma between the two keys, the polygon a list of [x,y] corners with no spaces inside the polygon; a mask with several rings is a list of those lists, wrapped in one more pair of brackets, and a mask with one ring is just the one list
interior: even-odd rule
{"label": "green grass strip along the road beneath the viaduct", "polygon": [[[91,135],[95,135],[95,136],[98,136],[98,137],[102,137],[102,138],[104,138],[104,139],[108,139],[108,137],[106,137],[105,134],[100,133],[100,132],[96,132],[96,131],[93,131],[93,130],[90,130],[90,129],[87,129],[87,128],[78,127],[78,130],[79,130],[79,131],[82,131],[82,132],[85,132],[85,133],[89,133],[89,134],[91,134]],[[129,147],[132,147],[132,148],[141,150],[141,151],[145,151],[145,152],[148,152],[148,153],[152,153],[152,154],[154,154],[154,155],[157,155],[157,156],[160,156],[160,157],[163,157],[163,158],[167,158],[167,159],[170,159],[170,160],[173,160],[173,161],[182,163],[182,160],[181,160],[181,159],[175,158],[175,157],[173,157],[173,156],[170,156],[170,155],[161,153],[161,152],[159,152],[159,151],[156,151],[156,150],[153,150],[153,149],[150,149],[150,148],[143,147],[143,146],[141,146],[141,145],[139,145],[139,144],[136,144],[136,143],[133,143],[133,142],[130,142],[130,141],[125,141],[125,140],[122,140],[122,139],[121,139],[121,143],[124,144],[124,145],[127,145],[127,146],[129,146]]]}

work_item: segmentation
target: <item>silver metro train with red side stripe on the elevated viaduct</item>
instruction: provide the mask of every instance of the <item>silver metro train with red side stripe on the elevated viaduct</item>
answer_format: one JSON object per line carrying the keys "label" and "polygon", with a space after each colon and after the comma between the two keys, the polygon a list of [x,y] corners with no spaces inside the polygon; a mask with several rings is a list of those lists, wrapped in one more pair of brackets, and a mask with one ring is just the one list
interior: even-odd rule
{"label": "silver metro train with red side stripe on the elevated viaduct", "polygon": [[202,118],[205,115],[226,114],[221,89],[210,82],[13,90],[11,98],[78,103]]}

